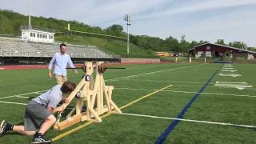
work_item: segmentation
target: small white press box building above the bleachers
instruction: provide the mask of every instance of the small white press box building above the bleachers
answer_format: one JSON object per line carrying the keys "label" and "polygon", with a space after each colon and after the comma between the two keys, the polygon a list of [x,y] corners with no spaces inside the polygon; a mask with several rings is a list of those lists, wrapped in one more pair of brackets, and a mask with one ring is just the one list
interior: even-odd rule
{"label": "small white press box building above the bleachers", "polygon": [[55,30],[39,26],[21,26],[22,40],[29,42],[54,42]]}

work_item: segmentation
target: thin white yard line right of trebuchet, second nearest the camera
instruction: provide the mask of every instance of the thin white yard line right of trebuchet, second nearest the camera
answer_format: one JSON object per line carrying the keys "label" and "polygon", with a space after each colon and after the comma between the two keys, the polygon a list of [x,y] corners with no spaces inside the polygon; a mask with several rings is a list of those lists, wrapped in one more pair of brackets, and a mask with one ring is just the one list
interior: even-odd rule
{"label": "thin white yard line right of trebuchet, second nearest the camera", "polygon": [[[154,91],[154,89],[137,89],[137,88],[124,88],[124,87],[116,87],[114,89],[120,90],[145,90],[145,91]],[[174,92],[174,93],[186,93],[186,94],[198,94],[198,92],[193,91],[178,91],[178,90],[162,90],[163,92]],[[209,94],[209,95],[227,95],[227,96],[234,96],[234,97],[250,97],[256,98],[256,95],[239,95],[239,94],[222,94],[222,93],[200,93],[200,94]]]}

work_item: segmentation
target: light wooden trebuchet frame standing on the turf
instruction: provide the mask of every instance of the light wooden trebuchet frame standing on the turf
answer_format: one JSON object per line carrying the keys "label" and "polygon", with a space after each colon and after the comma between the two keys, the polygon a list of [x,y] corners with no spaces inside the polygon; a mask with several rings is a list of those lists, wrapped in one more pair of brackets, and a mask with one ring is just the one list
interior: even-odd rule
{"label": "light wooden trebuchet frame standing on the turf", "polygon": [[[83,121],[102,122],[102,118],[99,116],[105,113],[122,113],[118,106],[112,101],[112,90],[114,90],[114,86],[105,85],[102,75],[102,69],[104,69],[102,68],[102,63],[103,62],[96,62],[96,77],[94,79],[94,66],[92,62],[85,62],[83,69],[86,74],[74,91],[67,97],[69,102],[62,104],[63,108],[66,109],[66,106],[68,106],[74,98],[77,98],[76,106],[70,111],[70,114],[67,115],[66,120],[54,125],[55,130],[63,130],[66,127]],[[86,104],[86,110],[82,111],[84,103]]]}

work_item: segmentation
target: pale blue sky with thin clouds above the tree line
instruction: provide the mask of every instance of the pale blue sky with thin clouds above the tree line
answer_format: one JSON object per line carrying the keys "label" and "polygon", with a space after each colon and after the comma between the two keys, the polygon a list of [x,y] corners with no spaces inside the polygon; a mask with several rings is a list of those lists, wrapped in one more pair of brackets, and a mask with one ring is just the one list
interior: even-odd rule
{"label": "pale blue sky with thin clouds above the tree line", "polygon": [[[2,10],[28,15],[28,7],[29,0],[0,0]],[[256,47],[256,0],[31,0],[33,16],[102,28],[118,24],[126,31],[125,14],[130,14],[131,34]]]}

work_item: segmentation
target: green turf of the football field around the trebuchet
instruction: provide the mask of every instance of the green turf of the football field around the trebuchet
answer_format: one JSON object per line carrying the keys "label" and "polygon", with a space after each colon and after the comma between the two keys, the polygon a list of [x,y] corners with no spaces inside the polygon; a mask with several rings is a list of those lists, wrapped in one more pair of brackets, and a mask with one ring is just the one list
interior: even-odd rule
{"label": "green turf of the football field around the trebuchet", "polygon": [[[173,85],[152,96],[122,109],[123,113],[146,114],[158,117],[176,118],[208,79],[222,72],[221,64],[148,64],[125,65],[126,70],[107,70],[104,73],[106,85],[113,85],[113,100],[119,106],[150,94],[165,86]],[[184,114],[185,119],[209,122],[225,122],[256,126],[256,68],[250,64],[232,64],[235,74],[241,77],[216,76],[209,82],[202,94]],[[47,90],[54,86],[47,78],[47,70],[0,70],[0,98]],[[68,73],[69,79],[79,82],[78,75]],[[133,77],[128,77],[134,75]],[[115,78],[115,79],[114,79]],[[238,90],[214,86],[220,82],[247,82],[252,88]],[[230,95],[228,95],[230,94]],[[246,97],[254,96],[254,97]],[[38,94],[23,95],[29,98],[4,98],[0,101],[27,103]],[[71,105],[74,105],[72,102]],[[0,102],[0,119],[14,124],[23,122],[25,106]],[[68,110],[66,110],[67,112]],[[53,143],[154,143],[166,130],[171,119],[146,118],[131,115],[111,114],[101,123],[92,123]],[[66,131],[82,126],[80,122],[66,130],[49,130],[47,138],[54,138]],[[181,121],[168,135],[165,143],[255,143],[256,129],[238,126],[222,126],[208,123]],[[9,133],[0,138],[0,143],[27,143],[30,137]]]}

